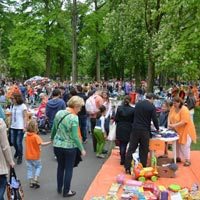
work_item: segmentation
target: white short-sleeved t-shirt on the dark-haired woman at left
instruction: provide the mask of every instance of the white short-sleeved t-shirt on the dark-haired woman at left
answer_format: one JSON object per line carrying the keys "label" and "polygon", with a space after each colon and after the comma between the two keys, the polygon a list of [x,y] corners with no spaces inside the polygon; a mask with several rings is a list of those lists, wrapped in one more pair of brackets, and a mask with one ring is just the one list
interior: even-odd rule
{"label": "white short-sleeved t-shirt on the dark-haired woman at left", "polygon": [[14,105],[11,108],[12,119],[11,128],[14,129],[24,129],[24,111],[27,110],[26,105],[23,103],[21,105]]}

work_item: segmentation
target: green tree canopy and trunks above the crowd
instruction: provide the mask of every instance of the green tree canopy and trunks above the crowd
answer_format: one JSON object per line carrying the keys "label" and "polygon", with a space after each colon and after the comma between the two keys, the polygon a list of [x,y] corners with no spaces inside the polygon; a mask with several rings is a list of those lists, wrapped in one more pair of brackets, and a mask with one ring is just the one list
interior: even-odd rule
{"label": "green tree canopy and trunks above the crowd", "polygon": [[146,79],[151,91],[155,78],[198,80],[199,50],[199,0],[0,1],[0,71],[13,78]]}

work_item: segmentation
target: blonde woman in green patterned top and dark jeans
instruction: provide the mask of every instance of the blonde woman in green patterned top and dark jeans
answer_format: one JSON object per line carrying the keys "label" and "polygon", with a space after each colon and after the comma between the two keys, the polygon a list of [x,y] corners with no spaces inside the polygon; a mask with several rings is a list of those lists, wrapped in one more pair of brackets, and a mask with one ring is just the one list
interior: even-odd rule
{"label": "blonde woman in green patterned top and dark jeans", "polygon": [[78,149],[82,156],[86,152],[83,148],[81,138],[78,134],[77,113],[84,105],[84,100],[78,96],[69,99],[68,108],[57,112],[51,131],[54,153],[57,157],[57,192],[63,197],[70,197],[76,194],[70,189],[73,167]]}

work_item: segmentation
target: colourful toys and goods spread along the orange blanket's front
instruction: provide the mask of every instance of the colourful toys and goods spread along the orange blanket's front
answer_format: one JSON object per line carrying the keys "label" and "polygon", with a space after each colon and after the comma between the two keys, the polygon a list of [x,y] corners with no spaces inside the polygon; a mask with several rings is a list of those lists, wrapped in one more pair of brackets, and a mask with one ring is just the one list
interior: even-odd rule
{"label": "colourful toys and goods spread along the orange blanket's front", "polygon": [[124,174],[117,175],[116,181],[112,183],[106,196],[92,197],[91,200],[200,200],[199,184],[194,184],[191,189],[177,184],[166,188],[156,186],[149,180],[125,180]]}

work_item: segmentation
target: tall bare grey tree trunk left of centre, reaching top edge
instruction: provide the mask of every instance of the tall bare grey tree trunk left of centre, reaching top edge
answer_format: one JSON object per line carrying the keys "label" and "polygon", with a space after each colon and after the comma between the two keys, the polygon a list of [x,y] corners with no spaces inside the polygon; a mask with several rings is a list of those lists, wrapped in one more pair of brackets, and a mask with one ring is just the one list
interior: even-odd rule
{"label": "tall bare grey tree trunk left of centre, reaching top edge", "polygon": [[77,74],[77,5],[76,0],[73,0],[72,8],[72,82],[76,83]]}

